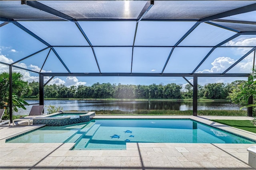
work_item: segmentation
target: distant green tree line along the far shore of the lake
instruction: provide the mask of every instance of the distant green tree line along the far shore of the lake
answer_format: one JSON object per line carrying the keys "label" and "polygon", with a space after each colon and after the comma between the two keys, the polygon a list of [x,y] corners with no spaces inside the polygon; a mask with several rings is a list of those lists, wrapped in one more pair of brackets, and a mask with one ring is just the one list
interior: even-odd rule
{"label": "distant green tree line along the far shore of the lake", "polygon": [[[232,83],[209,83],[198,85],[198,98],[226,99],[238,84],[243,80]],[[31,93],[24,98],[38,98],[38,82],[28,83]],[[63,84],[44,86],[44,98],[117,98],[117,99],[190,99],[193,96],[193,88],[190,84],[182,87],[182,84],[150,84],[150,85],[124,85],[110,83],[95,83],[92,86],[70,86]]]}

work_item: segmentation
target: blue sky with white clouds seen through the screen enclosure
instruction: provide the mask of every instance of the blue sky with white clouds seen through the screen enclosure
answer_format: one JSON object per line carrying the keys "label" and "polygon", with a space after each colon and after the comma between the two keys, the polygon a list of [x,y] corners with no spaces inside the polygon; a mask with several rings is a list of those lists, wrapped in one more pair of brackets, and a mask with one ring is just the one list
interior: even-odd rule
{"label": "blue sky with white clouds seen through the screen enclosure", "polygon": [[[241,14],[242,17],[246,14]],[[233,16],[239,19],[239,15]],[[250,14],[251,17],[251,14]],[[227,18],[227,19],[232,19]],[[2,23],[2,22],[1,22]],[[50,45],[88,45],[76,25],[69,21],[20,21],[30,31],[44,39]],[[92,45],[132,45],[136,22],[134,21],[80,21],[82,29]],[[194,25],[195,22],[140,21],[135,45],[174,45]],[[104,28],[104,29],[103,29]],[[150,29],[148,29],[150,28]],[[68,30],[68,31],[67,31]],[[154,30],[154,31],[152,31]],[[207,23],[201,23],[179,45],[214,46],[235,32],[221,29]],[[256,35],[240,35],[222,46],[255,46]],[[13,63],[40,51],[47,46],[30,36],[12,23],[0,27],[0,62]],[[54,47],[60,58],[71,72],[99,72],[90,47]],[[164,73],[190,73],[212,48],[176,47],[170,57]],[[196,70],[198,73],[222,73],[252,48],[216,48],[206,61]],[[170,47],[94,47],[101,72],[159,73],[171,51]],[[67,72],[56,55],[46,49],[14,65],[41,72]],[[249,73],[253,63],[253,53],[238,63],[228,73]],[[38,81],[38,74],[14,68],[21,72],[24,80]],[[8,71],[8,66],[0,64],[0,72]],[[47,81],[49,77],[45,77]],[[192,82],[190,77],[187,79]],[[198,78],[198,83],[246,80],[246,78]],[[55,77],[49,84],[86,85],[100,82],[111,84],[186,84],[181,77]]]}

